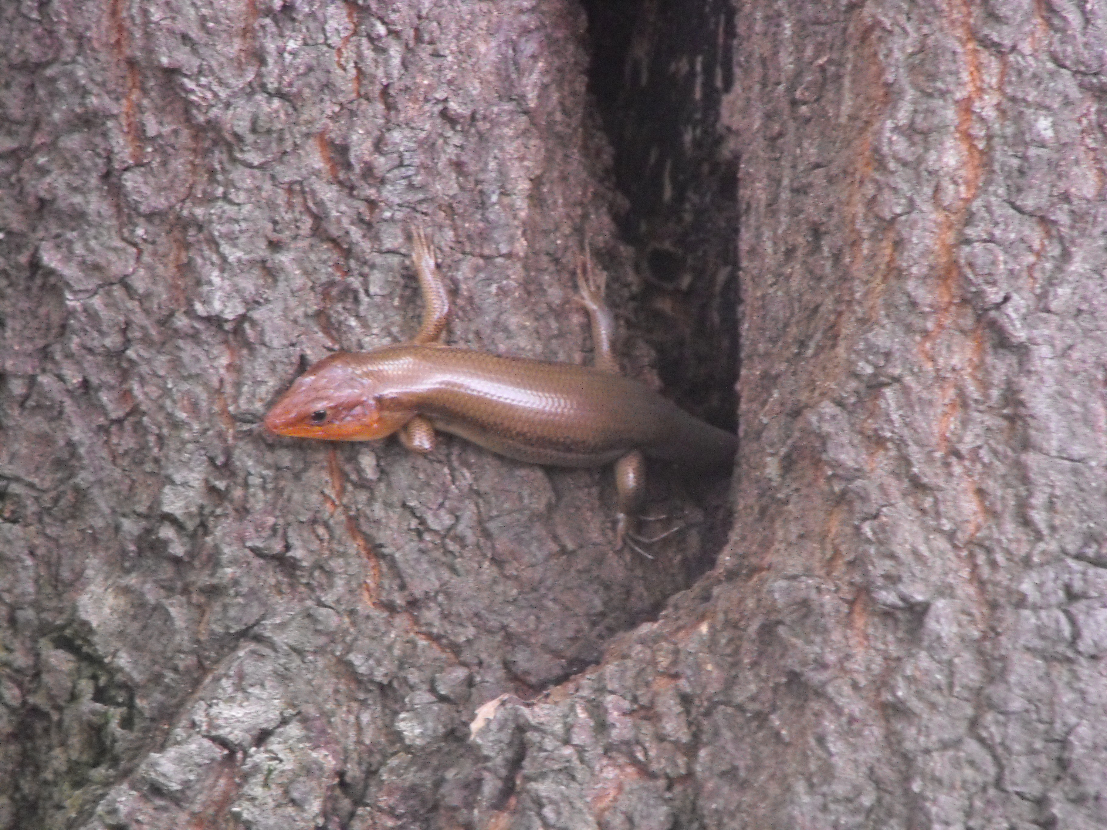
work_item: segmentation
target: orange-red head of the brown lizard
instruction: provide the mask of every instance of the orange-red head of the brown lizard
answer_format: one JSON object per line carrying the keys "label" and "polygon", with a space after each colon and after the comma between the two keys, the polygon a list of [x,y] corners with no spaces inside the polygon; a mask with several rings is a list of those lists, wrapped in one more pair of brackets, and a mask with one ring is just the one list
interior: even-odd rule
{"label": "orange-red head of the brown lizard", "polygon": [[372,384],[339,352],[300,375],[266,415],[277,435],[325,440],[384,438],[411,415],[381,412]]}

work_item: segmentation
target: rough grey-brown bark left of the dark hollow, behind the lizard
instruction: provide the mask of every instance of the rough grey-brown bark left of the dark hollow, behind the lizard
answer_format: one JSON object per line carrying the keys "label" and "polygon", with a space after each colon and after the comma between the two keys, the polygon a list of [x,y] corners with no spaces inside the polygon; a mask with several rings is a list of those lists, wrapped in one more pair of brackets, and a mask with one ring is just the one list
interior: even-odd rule
{"label": "rough grey-brown bark left of the dark hollow, behind the lizard", "polygon": [[700,547],[613,551],[606,470],[257,424],[411,335],[414,220],[457,344],[581,361],[586,234],[625,305],[583,11],[0,14],[0,826],[470,824],[475,707],[596,663]]}

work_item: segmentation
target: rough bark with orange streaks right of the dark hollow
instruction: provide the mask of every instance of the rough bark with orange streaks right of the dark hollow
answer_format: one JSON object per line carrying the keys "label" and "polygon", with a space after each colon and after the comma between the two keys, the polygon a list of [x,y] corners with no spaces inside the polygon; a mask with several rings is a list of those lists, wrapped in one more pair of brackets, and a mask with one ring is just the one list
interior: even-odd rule
{"label": "rough bark with orange streaks right of the dark hollow", "polygon": [[1105,22],[738,8],[732,541],[478,735],[505,826],[1107,823]]}

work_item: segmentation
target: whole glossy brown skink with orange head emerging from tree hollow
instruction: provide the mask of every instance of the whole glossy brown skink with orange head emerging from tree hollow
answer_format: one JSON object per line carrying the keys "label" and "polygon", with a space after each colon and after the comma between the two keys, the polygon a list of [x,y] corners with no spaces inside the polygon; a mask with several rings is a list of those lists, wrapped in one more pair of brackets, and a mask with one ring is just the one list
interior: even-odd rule
{"label": "whole glossy brown skink with orange head emerging from tree hollow", "polygon": [[[413,260],[423,293],[414,342],[372,352],[338,352],[319,361],[266,415],[278,435],[373,440],[397,433],[428,453],[435,432],[531,464],[615,464],[617,547],[638,538],[646,456],[696,474],[730,471],[737,439],[623,377],[612,349],[614,321],[586,256],[579,302],[591,321],[596,367],[498,357],[439,345],[449,299],[426,235],[416,229]],[[633,544],[633,542],[631,542]]]}

